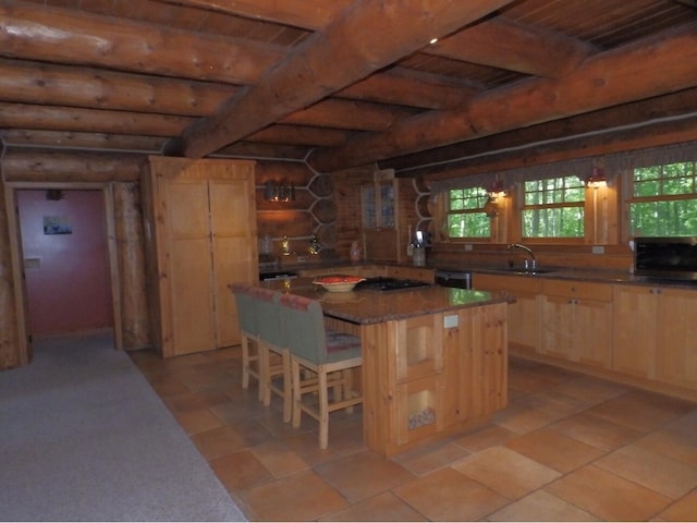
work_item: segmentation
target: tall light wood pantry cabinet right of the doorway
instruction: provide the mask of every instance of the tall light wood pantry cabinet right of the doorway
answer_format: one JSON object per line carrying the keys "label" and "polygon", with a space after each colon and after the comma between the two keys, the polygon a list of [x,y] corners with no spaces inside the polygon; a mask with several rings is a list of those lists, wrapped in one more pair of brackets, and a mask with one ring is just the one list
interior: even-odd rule
{"label": "tall light wood pantry cabinet right of the doorway", "polygon": [[258,279],[254,162],[150,157],[148,296],[163,357],[240,343],[228,285]]}

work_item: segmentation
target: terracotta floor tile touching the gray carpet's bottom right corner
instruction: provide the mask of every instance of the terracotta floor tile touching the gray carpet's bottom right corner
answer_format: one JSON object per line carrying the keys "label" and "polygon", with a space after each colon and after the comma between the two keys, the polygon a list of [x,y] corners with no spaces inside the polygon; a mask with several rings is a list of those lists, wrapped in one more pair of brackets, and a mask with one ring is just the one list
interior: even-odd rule
{"label": "terracotta floor tile touching the gray carpet's bottom right corner", "polygon": [[311,521],[346,507],[333,488],[304,471],[276,482],[253,487],[240,496],[258,521]]}

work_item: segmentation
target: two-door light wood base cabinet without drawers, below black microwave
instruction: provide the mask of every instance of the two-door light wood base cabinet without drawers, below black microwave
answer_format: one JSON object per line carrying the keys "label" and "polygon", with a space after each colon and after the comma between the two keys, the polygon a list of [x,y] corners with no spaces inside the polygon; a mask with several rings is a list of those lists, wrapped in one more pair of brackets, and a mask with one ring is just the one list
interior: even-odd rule
{"label": "two-door light wood base cabinet without drawers, below black microwave", "polygon": [[697,389],[697,292],[615,285],[613,368]]}

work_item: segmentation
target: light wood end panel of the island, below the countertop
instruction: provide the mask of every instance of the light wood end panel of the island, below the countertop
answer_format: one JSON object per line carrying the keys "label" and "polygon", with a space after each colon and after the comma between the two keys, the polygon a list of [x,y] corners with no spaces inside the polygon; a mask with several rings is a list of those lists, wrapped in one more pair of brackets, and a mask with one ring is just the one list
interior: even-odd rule
{"label": "light wood end panel of the island, below the countertop", "polygon": [[505,406],[506,306],[363,327],[364,436],[370,449],[392,455]]}

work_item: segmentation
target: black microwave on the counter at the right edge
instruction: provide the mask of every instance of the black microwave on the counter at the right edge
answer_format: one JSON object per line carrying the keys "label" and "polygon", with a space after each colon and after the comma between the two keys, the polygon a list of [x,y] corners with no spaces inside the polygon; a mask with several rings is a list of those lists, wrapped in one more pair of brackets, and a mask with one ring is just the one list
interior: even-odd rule
{"label": "black microwave on the counter at the right edge", "polygon": [[697,236],[635,238],[634,273],[697,280]]}

